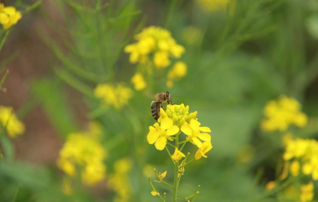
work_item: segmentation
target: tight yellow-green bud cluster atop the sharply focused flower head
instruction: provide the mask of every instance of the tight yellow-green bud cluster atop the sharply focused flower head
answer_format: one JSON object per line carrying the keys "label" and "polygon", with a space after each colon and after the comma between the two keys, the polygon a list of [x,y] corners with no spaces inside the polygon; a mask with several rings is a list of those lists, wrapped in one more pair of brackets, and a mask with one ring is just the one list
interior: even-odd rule
{"label": "tight yellow-green bud cluster atop the sharply focused flower head", "polygon": [[181,127],[184,123],[190,123],[191,119],[197,117],[198,112],[194,111],[189,113],[189,106],[184,106],[184,104],[167,104],[166,110],[160,108],[160,116],[158,121],[160,122],[162,118],[169,117],[173,122]]}

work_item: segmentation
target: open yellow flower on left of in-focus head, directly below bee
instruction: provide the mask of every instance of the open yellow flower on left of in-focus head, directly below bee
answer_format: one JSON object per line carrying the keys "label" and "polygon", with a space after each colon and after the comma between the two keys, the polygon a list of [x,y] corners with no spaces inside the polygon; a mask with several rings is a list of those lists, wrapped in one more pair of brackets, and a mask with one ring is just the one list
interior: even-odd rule
{"label": "open yellow flower on left of in-focus head, directly below bee", "polygon": [[158,150],[163,150],[167,144],[167,139],[172,140],[170,136],[179,132],[179,127],[173,125],[173,121],[170,118],[163,118],[159,123],[155,123],[154,126],[149,126],[149,133],[147,134],[147,141],[149,144],[154,144]]}

